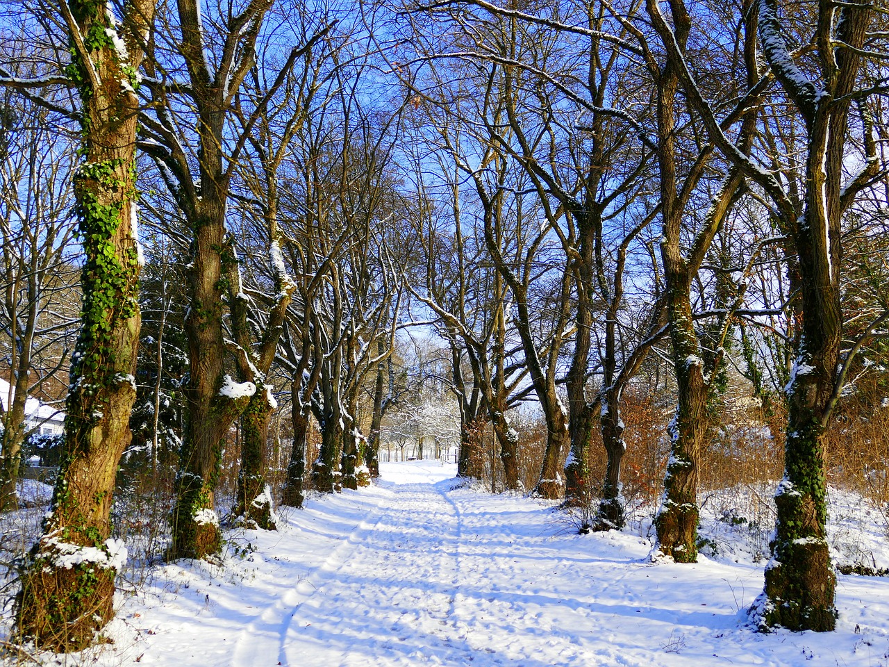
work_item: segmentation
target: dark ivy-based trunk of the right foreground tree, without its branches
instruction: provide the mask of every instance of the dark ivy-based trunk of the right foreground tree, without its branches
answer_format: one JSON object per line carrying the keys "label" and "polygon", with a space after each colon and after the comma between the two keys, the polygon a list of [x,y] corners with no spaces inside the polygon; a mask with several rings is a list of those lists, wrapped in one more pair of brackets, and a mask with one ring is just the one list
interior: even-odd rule
{"label": "dark ivy-based trunk of the right foreground tree, without its branches", "polygon": [[[820,158],[810,155],[812,159]],[[810,173],[814,169],[821,172],[820,166],[810,165]],[[821,201],[810,202],[805,220],[810,225],[817,221],[821,229],[826,229],[823,217],[813,215],[813,204],[821,211],[826,208]],[[842,311],[837,281],[831,276],[829,242],[825,248],[821,239],[819,248],[807,228],[801,224],[796,239],[804,277],[803,331],[787,388],[784,478],[775,493],[778,513],[770,542],[772,559],[765,568],[765,590],[758,602],[764,628],[831,631],[837,618],[837,577],[827,542],[823,438],[825,414],[837,382]],[[838,263],[838,253],[833,261]]]}

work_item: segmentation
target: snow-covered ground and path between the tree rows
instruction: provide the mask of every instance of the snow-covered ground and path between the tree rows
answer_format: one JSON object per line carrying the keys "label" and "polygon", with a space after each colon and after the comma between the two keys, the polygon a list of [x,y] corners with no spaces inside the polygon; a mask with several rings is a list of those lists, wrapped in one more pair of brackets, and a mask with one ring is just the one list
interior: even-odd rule
{"label": "snow-covered ground and path between the tree rows", "polygon": [[112,645],[44,660],[889,665],[889,578],[839,575],[836,632],[756,634],[739,610],[761,590],[764,562],[731,539],[749,526],[717,521],[712,559],[652,563],[643,535],[571,534],[547,506],[453,488],[453,474],[384,464],[378,486],[314,498],[279,532],[232,534],[222,567],[158,567],[122,596]]}

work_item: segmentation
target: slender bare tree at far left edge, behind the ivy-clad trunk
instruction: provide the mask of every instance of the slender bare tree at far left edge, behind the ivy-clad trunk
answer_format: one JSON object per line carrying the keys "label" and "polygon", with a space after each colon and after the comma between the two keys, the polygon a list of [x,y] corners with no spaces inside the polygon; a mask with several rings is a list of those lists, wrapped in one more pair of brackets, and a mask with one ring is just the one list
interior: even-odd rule
{"label": "slender bare tree at far left edge, behind the ivy-clad trunk", "polygon": [[51,112],[10,89],[0,108],[0,330],[8,362],[3,373],[11,381],[5,409],[0,406],[0,511],[5,511],[17,508],[21,446],[42,425],[34,423],[38,415],[26,423],[26,404],[52,395],[52,375],[62,375],[68,361],[63,345],[53,366],[41,367],[74,325],[76,313],[66,313],[60,300],[74,296],[67,278],[74,280],[75,269],[66,246],[76,228],[68,179],[73,150],[65,142],[52,146],[64,129],[52,123]]}

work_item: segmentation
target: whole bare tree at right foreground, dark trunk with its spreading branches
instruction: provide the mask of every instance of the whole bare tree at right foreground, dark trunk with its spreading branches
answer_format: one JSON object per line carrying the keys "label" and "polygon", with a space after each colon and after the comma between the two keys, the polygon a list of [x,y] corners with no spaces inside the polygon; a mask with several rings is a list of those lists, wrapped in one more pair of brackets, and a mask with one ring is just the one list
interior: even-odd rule
{"label": "whole bare tree at right foreground, dark trunk with its spreading branches", "polygon": [[[764,594],[753,611],[763,628],[781,625],[794,630],[829,631],[836,618],[835,576],[825,539],[822,438],[858,347],[853,345],[839,363],[843,330],[841,226],[844,213],[861,190],[879,176],[868,98],[885,93],[885,86],[866,78],[862,82],[861,73],[869,59],[885,59],[885,32],[869,32],[877,16],[870,4],[820,6],[804,20],[806,28],[802,29],[812,29],[815,53],[804,66],[803,57],[791,52],[789,46],[791,40],[798,39],[798,33],[781,20],[777,3],[760,0],[755,5],[757,12],[749,12],[747,43],[752,41],[750,33],[755,28],[772,76],[805,128],[804,159],[798,167],[797,181],[789,178],[797,174],[796,165],[784,173],[766,170],[725,136],[725,120],[717,120],[706,92],[681,52],[682,42],[677,45],[676,33],[659,18],[654,5],[650,7],[656,28],[664,37],[675,81],[681,82],[701,114],[709,140],[732,162],[733,172],[747,176],[765,192],[781,227],[793,239],[802,295],[801,332],[787,388],[785,478],[775,496],[778,518],[773,560],[766,568]],[[679,24],[677,17],[688,17],[681,0],[671,2],[670,8],[674,25]],[[749,46],[749,50],[752,48]],[[749,75],[757,72],[754,65],[748,70]],[[848,138],[853,104],[859,109],[862,134],[855,150],[863,166],[847,174],[845,154],[853,145]],[[779,160],[778,156],[771,157]],[[864,337],[886,317],[889,314],[877,317]]]}

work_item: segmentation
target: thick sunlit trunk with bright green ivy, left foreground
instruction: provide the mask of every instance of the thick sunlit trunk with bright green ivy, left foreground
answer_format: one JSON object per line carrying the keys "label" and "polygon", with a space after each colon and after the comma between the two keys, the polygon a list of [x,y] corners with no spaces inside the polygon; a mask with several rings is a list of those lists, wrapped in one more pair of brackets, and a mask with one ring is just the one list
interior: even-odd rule
{"label": "thick sunlit trunk with bright green ivy, left foreground", "polygon": [[[70,76],[83,102],[84,165],[74,175],[84,242],[84,306],[66,406],[65,443],[52,509],[17,596],[24,637],[54,651],[92,643],[114,615],[115,575],[126,560],[110,539],[115,476],[130,441],[139,342],[139,256],[134,146],[139,100],[132,88],[151,2],[127,5],[129,54],[114,41],[104,4],[72,2]],[[82,39],[86,38],[87,44]],[[89,61],[87,61],[89,60]],[[76,563],[71,566],[72,560]]]}

